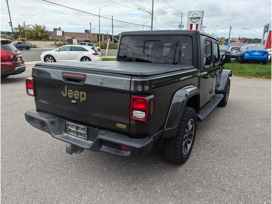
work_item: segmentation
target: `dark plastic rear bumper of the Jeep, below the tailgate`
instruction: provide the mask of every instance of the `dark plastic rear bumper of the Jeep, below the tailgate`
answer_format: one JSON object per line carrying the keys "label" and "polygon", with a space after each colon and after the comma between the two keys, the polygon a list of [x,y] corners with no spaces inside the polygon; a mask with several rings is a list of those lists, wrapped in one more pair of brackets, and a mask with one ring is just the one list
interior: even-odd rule
{"label": "dark plastic rear bumper of the Jeep, below the tailgate", "polygon": [[[131,138],[130,135],[124,133],[68,121],[65,118],[60,118],[49,113],[37,112],[36,109],[26,111],[25,119],[32,126],[49,133],[52,137],[86,150],[106,152],[123,157],[136,157],[150,152],[153,146],[153,139],[149,136]],[[44,124],[38,124],[34,119],[41,120]],[[87,126],[87,140],[68,135],[66,122]],[[123,151],[120,149],[120,145],[128,146],[131,150]]]}

